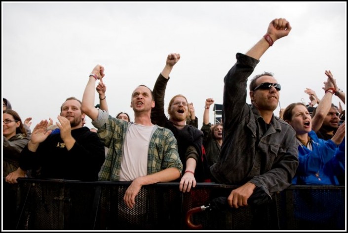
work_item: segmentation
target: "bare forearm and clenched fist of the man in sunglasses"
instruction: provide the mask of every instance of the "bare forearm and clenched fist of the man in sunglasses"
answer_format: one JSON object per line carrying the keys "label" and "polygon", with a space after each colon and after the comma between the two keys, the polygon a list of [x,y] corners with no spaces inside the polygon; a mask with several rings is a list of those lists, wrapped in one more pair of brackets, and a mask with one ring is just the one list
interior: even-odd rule
{"label": "bare forearm and clenched fist of the man in sunglasses", "polygon": [[[269,24],[266,35],[252,47],[246,55],[259,60],[273,42],[287,36],[291,31],[290,23],[283,18],[273,19]],[[270,39],[271,38],[271,39]]]}

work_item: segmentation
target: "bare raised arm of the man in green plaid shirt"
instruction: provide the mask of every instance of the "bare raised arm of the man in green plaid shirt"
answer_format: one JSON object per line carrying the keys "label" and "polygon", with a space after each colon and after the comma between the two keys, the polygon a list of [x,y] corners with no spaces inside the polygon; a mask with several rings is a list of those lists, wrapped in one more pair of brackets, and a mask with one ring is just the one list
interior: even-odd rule
{"label": "bare raised arm of the man in green plaid shirt", "polygon": [[100,65],[94,67],[91,75],[89,75],[89,80],[83,92],[81,109],[89,118],[92,119],[92,121],[95,121],[98,117],[98,109],[94,107],[95,81],[97,81],[97,79],[102,79],[104,75],[104,67]]}

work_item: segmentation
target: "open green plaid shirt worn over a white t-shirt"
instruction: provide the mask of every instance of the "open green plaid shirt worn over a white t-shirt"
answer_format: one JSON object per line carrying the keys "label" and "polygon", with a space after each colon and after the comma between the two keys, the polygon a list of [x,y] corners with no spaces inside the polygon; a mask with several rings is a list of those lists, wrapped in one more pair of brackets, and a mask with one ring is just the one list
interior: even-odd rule
{"label": "open green plaid shirt worn over a white t-shirt", "polygon": [[[133,122],[126,122],[100,110],[98,118],[92,122],[98,128],[98,136],[109,148],[104,165],[99,172],[99,180],[118,181],[122,163],[123,141],[126,138],[128,127]],[[174,134],[163,127],[156,126],[152,132],[148,151],[148,175],[166,168],[175,167],[182,171],[177,141]]]}

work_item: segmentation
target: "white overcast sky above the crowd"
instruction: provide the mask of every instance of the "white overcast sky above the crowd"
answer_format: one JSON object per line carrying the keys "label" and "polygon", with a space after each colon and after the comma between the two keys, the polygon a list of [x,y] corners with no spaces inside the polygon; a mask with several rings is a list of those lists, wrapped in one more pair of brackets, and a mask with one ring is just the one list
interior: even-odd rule
{"label": "white overcast sky above the crowd", "polygon": [[[170,75],[166,105],[174,95],[185,95],[200,127],[205,99],[222,103],[223,78],[235,54],[245,53],[272,19],[283,17],[291,33],[274,43],[253,75],[275,74],[281,107],[301,98],[308,102],[306,87],[323,96],[325,69],[346,91],[346,7],[346,2],[1,2],[2,97],[23,121],[29,116],[34,125],[48,117],[57,121],[60,105],[67,97],[82,99],[88,74],[101,64],[110,113],[125,111],[134,120],[132,91],[140,84],[153,88],[167,55],[175,52],[181,60]],[[338,104],[337,97],[333,102]],[[89,118],[86,126],[92,127]]]}

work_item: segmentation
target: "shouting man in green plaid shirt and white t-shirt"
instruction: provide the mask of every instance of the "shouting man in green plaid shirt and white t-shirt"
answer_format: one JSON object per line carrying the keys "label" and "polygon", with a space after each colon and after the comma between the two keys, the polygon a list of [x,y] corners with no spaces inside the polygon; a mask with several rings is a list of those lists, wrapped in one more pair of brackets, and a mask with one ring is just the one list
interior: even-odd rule
{"label": "shouting man in green plaid shirt and white t-shirt", "polygon": [[[100,79],[103,88],[104,75],[104,67],[94,67],[83,94],[82,110],[92,119],[99,137],[109,148],[99,180],[132,181],[123,200],[133,208],[143,185],[176,180],[181,176],[183,165],[173,133],[151,123],[155,101],[148,87],[140,85],[132,93],[134,122],[116,119],[94,107],[95,81]],[[99,99],[106,101],[106,97]]]}

